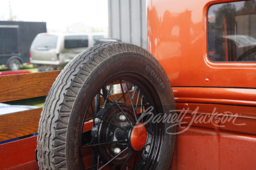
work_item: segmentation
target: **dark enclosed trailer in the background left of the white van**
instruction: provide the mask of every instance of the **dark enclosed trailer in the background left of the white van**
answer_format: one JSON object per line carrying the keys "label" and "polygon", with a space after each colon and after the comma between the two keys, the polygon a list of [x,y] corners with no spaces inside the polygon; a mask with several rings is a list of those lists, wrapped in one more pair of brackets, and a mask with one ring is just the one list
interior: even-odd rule
{"label": "dark enclosed trailer in the background left of the white van", "polygon": [[45,22],[0,21],[0,65],[17,70],[29,64],[29,48],[41,32],[47,32]]}

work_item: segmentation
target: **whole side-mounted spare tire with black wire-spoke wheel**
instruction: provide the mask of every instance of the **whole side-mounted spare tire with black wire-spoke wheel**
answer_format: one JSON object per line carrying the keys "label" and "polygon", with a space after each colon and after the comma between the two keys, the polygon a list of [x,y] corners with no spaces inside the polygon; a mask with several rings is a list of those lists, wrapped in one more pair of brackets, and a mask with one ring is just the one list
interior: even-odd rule
{"label": "whole side-mounted spare tire with black wire-spoke wheel", "polygon": [[[113,82],[120,82],[126,103],[131,99],[140,100],[141,104],[125,104],[122,96],[119,101],[115,99],[116,103],[111,100]],[[125,93],[124,87],[131,90],[131,95]],[[99,96],[104,96],[103,101]],[[169,169],[175,146],[175,136],[165,132],[172,125],[170,122],[145,124],[147,141],[141,145],[143,148],[136,151],[131,144],[134,128],[130,123],[136,125],[139,112],[150,106],[154,107],[154,115],[175,110],[170,82],[150,53],[126,43],[106,43],[80,53],[61,71],[45,101],[38,127],[38,166],[40,169],[88,166],[98,169],[111,160],[108,167],[114,169],[126,169],[130,164],[135,169]],[[89,120],[93,121],[92,130],[83,132],[84,122]],[[168,132],[175,131],[175,127],[168,129]],[[121,138],[124,140],[119,141]],[[92,152],[92,160],[84,162],[87,151]]]}

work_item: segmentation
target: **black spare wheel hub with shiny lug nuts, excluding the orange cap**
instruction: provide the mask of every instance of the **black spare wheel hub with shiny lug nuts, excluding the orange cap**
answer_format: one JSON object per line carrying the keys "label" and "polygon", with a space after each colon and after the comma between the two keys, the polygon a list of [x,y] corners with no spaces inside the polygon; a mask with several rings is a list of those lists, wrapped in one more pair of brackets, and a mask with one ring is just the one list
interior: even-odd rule
{"label": "black spare wheel hub with shiny lug nuts, excluding the orange cap", "polygon": [[[132,117],[132,108],[128,104],[120,104],[120,108],[125,113],[125,116],[134,123]],[[94,136],[94,143],[109,143],[108,145],[102,145],[94,149],[94,152],[102,155],[102,159],[106,162],[113,159],[118,153],[127,148],[129,143],[128,132],[131,129],[127,118],[120,111],[115,104],[106,104],[106,107],[99,111],[97,116],[104,118],[108,122],[103,122],[95,118],[95,125],[92,127],[92,138]],[[114,125],[113,125],[114,124]],[[119,129],[122,127],[124,130]],[[122,141],[115,143],[115,141]],[[122,155],[119,155],[115,160],[111,161],[112,165],[118,166],[124,164],[125,160],[129,156],[131,150],[127,150]]]}

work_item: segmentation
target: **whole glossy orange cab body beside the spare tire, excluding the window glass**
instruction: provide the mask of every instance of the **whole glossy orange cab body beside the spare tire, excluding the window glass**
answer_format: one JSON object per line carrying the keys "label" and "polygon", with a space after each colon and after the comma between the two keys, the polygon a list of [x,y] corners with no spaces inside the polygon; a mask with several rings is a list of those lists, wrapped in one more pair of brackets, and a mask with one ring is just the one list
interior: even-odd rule
{"label": "whole glossy orange cab body beside the spare tire, excluding the window glass", "polygon": [[[147,1],[148,51],[170,80],[177,110],[190,111],[172,169],[256,169],[256,62],[212,62],[207,53],[207,10],[227,2],[234,1]],[[218,120],[223,113],[236,122]]]}

